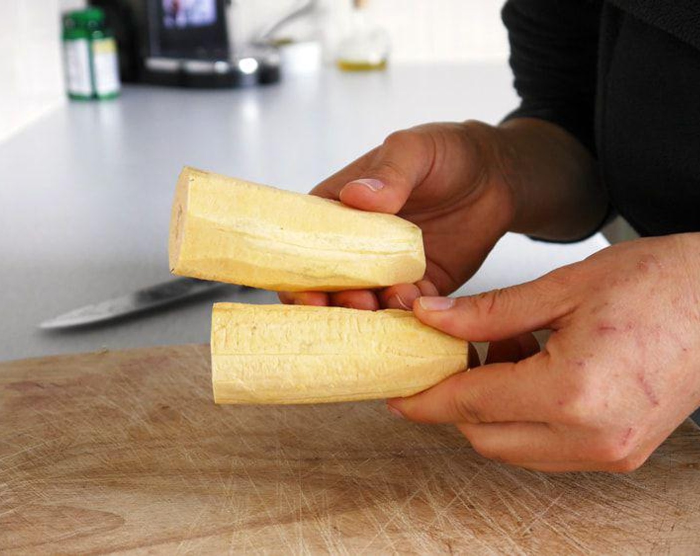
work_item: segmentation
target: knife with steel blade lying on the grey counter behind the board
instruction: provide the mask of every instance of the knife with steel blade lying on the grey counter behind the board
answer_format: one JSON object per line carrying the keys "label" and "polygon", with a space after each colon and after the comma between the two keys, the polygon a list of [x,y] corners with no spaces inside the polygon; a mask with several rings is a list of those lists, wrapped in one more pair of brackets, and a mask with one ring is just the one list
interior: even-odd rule
{"label": "knife with steel blade lying on the grey counter behind the board", "polygon": [[[106,322],[125,315],[148,311],[148,309],[172,305],[183,299],[218,290],[220,287],[231,287],[231,285],[197,280],[197,278],[175,278],[174,280],[146,287],[144,290],[137,290],[121,297],[73,309],[73,311],[41,322],[38,327],[41,329],[58,329]],[[237,287],[241,291],[253,290],[253,288],[245,286]]]}

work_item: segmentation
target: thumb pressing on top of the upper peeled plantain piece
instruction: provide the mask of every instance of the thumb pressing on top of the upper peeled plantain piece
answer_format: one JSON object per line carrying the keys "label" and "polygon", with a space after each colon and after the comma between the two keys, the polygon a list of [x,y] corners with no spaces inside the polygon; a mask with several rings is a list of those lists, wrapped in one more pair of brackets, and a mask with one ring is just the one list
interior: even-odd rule
{"label": "thumb pressing on top of the upper peeled plantain piece", "polygon": [[426,133],[396,131],[370,155],[363,176],[342,187],[340,200],[363,211],[395,214],[428,176],[435,142]]}

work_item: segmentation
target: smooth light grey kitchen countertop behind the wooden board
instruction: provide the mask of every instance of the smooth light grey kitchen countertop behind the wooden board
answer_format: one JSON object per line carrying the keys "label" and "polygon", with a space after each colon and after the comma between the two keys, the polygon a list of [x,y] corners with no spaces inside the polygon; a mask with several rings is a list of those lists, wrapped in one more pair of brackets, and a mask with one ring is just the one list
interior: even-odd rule
{"label": "smooth light grey kitchen countertop behind the wooden board", "polygon": [[[470,64],[328,69],[247,90],[129,86],[116,101],[57,108],[0,143],[0,359],[207,341],[212,299],[233,290],[110,326],[36,328],[169,278],[169,209],[185,164],[306,192],[394,129],[496,122],[516,103],[505,64]],[[509,234],[461,292],[529,280],[606,244]]]}

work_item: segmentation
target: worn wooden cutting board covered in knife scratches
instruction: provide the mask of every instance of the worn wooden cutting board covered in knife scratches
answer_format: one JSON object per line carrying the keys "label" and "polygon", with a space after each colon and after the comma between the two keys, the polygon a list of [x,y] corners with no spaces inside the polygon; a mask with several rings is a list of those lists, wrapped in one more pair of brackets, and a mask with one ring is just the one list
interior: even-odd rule
{"label": "worn wooden cutting board covered in knife scratches", "polygon": [[639,471],[489,462],[381,401],[215,406],[208,348],[0,364],[0,553],[700,553],[700,433]]}

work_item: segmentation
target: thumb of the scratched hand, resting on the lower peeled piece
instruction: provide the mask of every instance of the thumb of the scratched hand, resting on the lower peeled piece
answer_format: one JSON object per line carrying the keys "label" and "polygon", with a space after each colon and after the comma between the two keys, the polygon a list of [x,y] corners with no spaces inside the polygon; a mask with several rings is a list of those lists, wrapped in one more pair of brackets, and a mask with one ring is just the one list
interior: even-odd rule
{"label": "thumb of the scratched hand, resting on the lower peeled piece", "polygon": [[497,341],[551,327],[572,311],[575,299],[557,273],[467,297],[419,297],[421,322],[468,341]]}

